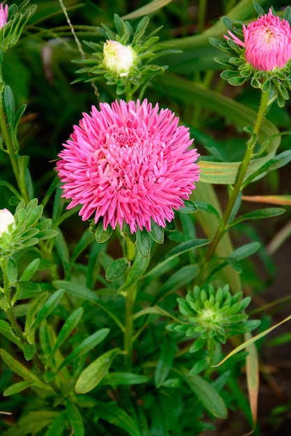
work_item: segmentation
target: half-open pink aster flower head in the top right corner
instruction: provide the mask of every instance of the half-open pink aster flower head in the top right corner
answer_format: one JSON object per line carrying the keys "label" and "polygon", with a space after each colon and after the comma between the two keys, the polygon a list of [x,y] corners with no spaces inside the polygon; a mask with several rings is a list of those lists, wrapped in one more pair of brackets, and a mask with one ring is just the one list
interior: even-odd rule
{"label": "half-open pink aster flower head in the top right corner", "polygon": [[[228,31],[234,42],[246,48],[246,61],[262,71],[282,68],[291,58],[291,29],[287,20],[268,14],[243,26],[244,41]],[[230,39],[225,35],[226,39]]]}

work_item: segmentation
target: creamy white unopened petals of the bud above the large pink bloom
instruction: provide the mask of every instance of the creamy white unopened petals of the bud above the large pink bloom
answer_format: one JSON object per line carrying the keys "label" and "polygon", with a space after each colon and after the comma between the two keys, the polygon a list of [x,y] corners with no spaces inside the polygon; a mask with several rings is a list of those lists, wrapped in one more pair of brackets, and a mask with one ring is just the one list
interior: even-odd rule
{"label": "creamy white unopened petals of the bud above the large pink bloom", "polygon": [[120,77],[126,77],[135,63],[137,54],[130,45],[107,40],[103,46],[103,56],[103,64],[107,70],[117,73]]}

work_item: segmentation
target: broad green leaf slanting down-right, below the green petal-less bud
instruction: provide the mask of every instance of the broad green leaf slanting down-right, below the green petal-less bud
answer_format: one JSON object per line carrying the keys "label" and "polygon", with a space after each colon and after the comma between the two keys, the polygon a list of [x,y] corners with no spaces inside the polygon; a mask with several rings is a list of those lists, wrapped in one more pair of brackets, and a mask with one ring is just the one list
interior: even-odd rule
{"label": "broad green leaf slanting down-right, below the green petal-less bud", "polygon": [[216,418],[225,419],[227,417],[227,408],[221,396],[209,382],[199,375],[189,375],[188,370],[181,368],[180,371],[184,380],[187,382],[191,391],[201,401],[204,407]]}

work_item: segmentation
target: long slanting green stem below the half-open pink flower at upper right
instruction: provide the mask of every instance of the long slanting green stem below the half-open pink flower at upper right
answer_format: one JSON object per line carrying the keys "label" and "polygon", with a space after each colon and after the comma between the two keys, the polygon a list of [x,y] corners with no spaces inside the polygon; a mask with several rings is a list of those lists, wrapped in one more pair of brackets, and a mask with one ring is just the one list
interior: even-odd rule
{"label": "long slanting green stem below the half-open pink flower at upper right", "polygon": [[241,162],[241,166],[239,167],[239,172],[237,173],[237,179],[234,183],[234,186],[232,188],[232,192],[230,193],[230,198],[227,203],[227,206],[225,208],[225,212],[223,213],[223,219],[221,225],[218,227],[216,234],[214,235],[213,240],[211,240],[207,252],[204,256],[200,273],[197,275],[197,278],[195,280],[195,285],[199,286],[204,279],[205,271],[207,270],[207,266],[209,264],[209,261],[211,260],[212,256],[214,255],[216,248],[221,241],[221,238],[223,238],[223,235],[225,234],[225,231],[227,230],[227,225],[230,220],[230,216],[232,213],[232,210],[234,208],[234,203],[237,200],[237,196],[239,195],[239,192],[241,191],[244,178],[246,176],[246,171],[248,169],[248,165],[251,162],[251,158],[253,157],[255,144],[258,141],[258,134],[260,133],[260,128],[262,127],[262,123],[264,120],[264,116],[267,111],[268,107],[268,101],[269,101],[269,91],[264,92],[262,91],[261,95],[261,101],[260,101],[260,107],[258,110],[257,119],[255,120],[255,125],[253,127],[253,134],[251,135],[250,139],[248,139],[248,142],[246,143],[246,154],[244,155],[244,159]]}

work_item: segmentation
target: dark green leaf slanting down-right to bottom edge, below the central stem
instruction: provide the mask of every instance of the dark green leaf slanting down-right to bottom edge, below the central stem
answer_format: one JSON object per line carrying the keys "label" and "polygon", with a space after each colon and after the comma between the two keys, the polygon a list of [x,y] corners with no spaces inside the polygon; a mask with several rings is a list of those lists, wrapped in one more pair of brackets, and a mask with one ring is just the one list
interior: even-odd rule
{"label": "dark green leaf slanting down-right to bottom edge, below the central stem", "polygon": [[114,426],[123,428],[130,436],[142,436],[137,424],[133,421],[131,416],[124,412],[124,410],[120,409],[117,405],[96,401],[95,407],[96,413],[100,419],[104,419]]}

